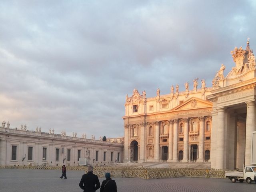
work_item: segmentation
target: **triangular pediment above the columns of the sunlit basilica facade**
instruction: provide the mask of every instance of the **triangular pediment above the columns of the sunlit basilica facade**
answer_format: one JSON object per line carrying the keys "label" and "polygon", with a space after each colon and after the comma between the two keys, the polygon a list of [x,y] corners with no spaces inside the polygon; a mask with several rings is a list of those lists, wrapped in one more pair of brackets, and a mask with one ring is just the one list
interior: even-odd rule
{"label": "triangular pediment above the columns of the sunlit basilica facade", "polygon": [[180,111],[180,110],[193,110],[193,109],[200,109],[200,108],[212,108],[212,102],[208,100],[202,100],[196,97],[192,97],[186,102],[176,106],[172,110]]}

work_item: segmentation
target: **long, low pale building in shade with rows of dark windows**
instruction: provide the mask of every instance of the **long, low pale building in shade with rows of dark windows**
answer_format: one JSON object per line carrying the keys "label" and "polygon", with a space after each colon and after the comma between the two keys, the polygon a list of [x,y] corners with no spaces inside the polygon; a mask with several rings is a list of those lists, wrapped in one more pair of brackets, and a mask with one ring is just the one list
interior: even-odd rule
{"label": "long, low pale building in shade with rows of dark windows", "polygon": [[66,136],[66,132],[56,134],[13,129],[0,126],[0,166],[77,166],[79,158],[86,158],[88,164],[110,165],[123,162],[123,144],[102,140]]}

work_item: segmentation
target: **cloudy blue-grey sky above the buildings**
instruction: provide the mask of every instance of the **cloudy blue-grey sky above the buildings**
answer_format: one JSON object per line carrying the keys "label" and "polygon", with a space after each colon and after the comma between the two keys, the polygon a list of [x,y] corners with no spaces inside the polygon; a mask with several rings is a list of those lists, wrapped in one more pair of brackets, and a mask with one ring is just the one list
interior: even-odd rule
{"label": "cloudy blue-grey sky above the buildings", "polygon": [[[126,94],[228,74],[256,48],[254,0],[1,0],[0,121],[124,135]],[[88,137],[87,137],[88,138]]]}

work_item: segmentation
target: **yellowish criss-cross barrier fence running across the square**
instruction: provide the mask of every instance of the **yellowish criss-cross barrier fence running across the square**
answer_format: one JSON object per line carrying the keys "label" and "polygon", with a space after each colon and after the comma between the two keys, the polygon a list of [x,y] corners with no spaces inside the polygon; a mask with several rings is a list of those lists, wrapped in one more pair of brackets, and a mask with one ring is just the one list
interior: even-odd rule
{"label": "yellowish criss-cross barrier fence running across the square", "polygon": [[[45,169],[61,170],[61,166],[0,166],[0,168],[9,169]],[[84,170],[86,166],[66,166],[67,170]],[[109,172],[111,176],[122,178],[144,178],[160,179],[175,177],[204,177],[204,178],[225,178],[225,170],[216,169],[172,169],[172,168],[128,168],[128,167],[105,167],[95,166],[94,174],[104,178],[105,173]]]}

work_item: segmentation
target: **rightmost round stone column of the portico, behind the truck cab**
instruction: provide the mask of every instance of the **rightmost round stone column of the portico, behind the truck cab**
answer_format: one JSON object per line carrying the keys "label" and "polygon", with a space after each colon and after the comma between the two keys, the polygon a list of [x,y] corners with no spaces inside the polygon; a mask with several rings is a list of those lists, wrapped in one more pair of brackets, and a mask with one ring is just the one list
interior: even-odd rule
{"label": "rightmost round stone column of the portico, behind the truck cab", "polygon": [[251,164],[251,142],[252,132],[255,131],[255,102],[248,102],[246,113],[246,133],[245,133],[245,165]]}

